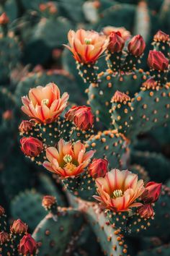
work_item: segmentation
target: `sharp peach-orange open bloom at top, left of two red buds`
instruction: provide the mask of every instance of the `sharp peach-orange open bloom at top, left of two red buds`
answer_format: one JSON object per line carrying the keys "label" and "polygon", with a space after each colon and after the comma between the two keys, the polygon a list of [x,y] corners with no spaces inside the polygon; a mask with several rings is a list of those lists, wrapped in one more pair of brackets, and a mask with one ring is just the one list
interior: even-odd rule
{"label": "sharp peach-orange open bloom at top, left of two red buds", "polygon": [[76,32],[73,30],[68,32],[68,42],[70,46],[65,46],[73,53],[76,61],[94,64],[106,50],[108,38],[96,31],[80,29]]}

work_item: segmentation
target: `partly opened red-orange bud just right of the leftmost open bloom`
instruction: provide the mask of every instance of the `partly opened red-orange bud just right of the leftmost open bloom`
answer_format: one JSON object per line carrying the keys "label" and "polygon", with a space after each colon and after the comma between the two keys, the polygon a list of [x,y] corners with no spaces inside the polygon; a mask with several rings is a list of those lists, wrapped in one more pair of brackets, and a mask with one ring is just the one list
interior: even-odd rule
{"label": "partly opened red-orange bud just right of the leftmost open bloom", "polygon": [[66,119],[73,121],[76,127],[82,130],[90,129],[94,123],[91,108],[87,106],[73,106],[66,113]]}

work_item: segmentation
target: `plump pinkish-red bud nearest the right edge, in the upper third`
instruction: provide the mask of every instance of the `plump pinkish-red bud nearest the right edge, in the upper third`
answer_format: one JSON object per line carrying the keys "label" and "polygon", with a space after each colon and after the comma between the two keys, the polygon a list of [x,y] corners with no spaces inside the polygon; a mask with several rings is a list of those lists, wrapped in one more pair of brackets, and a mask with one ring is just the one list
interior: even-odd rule
{"label": "plump pinkish-red bud nearest the right edge, in the upper third", "polygon": [[169,66],[169,60],[166,59],[166,56],[161,51],[149,51],[148,66],[151,69],[164,71]]}

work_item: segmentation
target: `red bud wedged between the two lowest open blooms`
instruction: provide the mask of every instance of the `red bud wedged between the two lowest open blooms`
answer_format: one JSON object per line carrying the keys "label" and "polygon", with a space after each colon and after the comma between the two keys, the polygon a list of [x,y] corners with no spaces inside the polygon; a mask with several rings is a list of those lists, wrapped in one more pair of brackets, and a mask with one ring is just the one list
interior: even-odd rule
{"label": "red bud wedged between the two lowest open blooms", "polygon": [[94,159],[89,165],[89,174],[97,179],[99,177],[104,177],[107,173],[108,161],[107,159]]}

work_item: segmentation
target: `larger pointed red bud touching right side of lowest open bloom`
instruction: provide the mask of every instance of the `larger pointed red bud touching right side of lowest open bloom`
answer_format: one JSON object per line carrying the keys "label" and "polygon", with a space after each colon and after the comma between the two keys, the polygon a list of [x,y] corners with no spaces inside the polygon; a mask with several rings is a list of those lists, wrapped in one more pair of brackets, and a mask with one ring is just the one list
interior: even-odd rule
{"label": "larger pointed red bud touching right side of lowest open bloom", "polygon": [[161,183],[148,182],[146,190],[143,192],[142,200],[145,204],[151,204],[158,200],[161,193]]}

